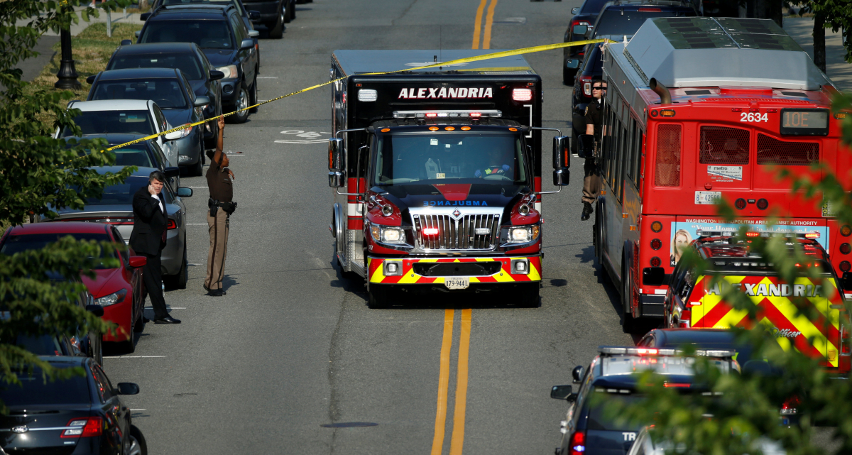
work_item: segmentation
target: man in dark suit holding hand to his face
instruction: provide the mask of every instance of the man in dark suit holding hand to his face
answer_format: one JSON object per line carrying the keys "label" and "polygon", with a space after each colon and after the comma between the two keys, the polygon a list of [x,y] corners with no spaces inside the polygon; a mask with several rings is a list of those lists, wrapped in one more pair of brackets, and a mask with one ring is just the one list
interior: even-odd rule
{"label": "man in dark suit holding hand to his face", "polygon": [[163,298],[163,271],[160,265],[160,254],[165,248],[166,227],[169,216],[165,210],[163,186],[165,175],[155,170],[148,177],[147,187],[141,187],[133,195],[133,232],[130,233],[130,248],[138,255],[147,257],[147,263],[142,268],[142,280],[151,306],[154,308],[154,324],[180,324],[169,315]]}

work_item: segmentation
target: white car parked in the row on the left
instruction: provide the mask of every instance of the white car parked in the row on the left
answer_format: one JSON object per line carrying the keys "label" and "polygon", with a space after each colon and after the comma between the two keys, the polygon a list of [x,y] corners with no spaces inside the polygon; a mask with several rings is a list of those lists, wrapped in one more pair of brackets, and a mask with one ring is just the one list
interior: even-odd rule
{"label": "white car parked in the row on the left", "polygon": [[[71,101],[68,109],[81,111],[74,118],[74,123],[80,127],[83,135],[153,135],[173,128],[157,103],[151,100]],[[182,134],[182,131],[175,131],[160,135],[155,140],[163,150],[169,167],[177,166],[177,146],[173,141]],[[55,133],[56,139],[73,136],[69,128],[57,129]]]}

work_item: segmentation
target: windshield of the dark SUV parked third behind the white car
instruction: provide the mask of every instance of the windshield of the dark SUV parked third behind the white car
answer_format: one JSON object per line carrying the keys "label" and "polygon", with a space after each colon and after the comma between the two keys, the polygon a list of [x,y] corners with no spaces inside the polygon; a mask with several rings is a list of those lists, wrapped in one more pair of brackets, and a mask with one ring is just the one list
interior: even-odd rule
{"label": "windshield of the dark SUV parked third behind the white car", "polygon": [[224,20],[148,21],[140,43],[196,43],[202,49],[233,49],[231,29]]}

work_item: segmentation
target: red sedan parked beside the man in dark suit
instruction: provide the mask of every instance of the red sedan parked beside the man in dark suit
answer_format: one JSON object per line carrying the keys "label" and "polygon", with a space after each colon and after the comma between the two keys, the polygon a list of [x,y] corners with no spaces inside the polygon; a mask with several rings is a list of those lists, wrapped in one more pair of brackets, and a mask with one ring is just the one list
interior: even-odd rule
{"label": "red sedan parked beside the man in dark suit", "polygon": [[[18,251],[37,250],[55,242],[61,237],[71,235],[78,240],[97,240],[116,242],[124,245],[124,239],[118,229],[108,224],[95,222],[45,222],[9,227],[0,239],[0,254],[13,255]],[[104,308],[104,320],[118,324],[115,335],[105,334],[103,341],[118,342],[125,352],[133,352],[133,331],[142,331],[145,327],[142,318],[144,296],[142,270],[146,258],[134,256],[128,247],[124,251],[114,251],[121,266],[118,268],[97,268],[95,279],[83,276],[83,284],[95,297],[95,303]],[[113,257],[115,257],[113,256]]]}

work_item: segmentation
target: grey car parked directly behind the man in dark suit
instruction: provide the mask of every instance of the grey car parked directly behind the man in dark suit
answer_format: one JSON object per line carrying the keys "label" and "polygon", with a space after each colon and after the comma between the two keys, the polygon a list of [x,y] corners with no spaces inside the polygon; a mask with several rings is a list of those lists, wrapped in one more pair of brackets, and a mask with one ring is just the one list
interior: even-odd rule
{"label": "grey car parked directly behind the man in dark suit", "polygon": [[[101,174],[118,172],[119,166],[104,166],[95,168]],[[104,188],[101,199],[88,199],[83,210],[70,208],[58,209],[59,217],[55,222],[107,222],[118,230],[124,243],[130,242],[133,232],[133,194],[140,187],[147,186],[148,176],[153,168],[139,168],[124,183]],[[166,245],[162,256],[163,281],[169,288],[185,288],[187,286],[187,206],[181,198],[193,195],[192,188],[177,188],[175,191],[170,183],[163,187],[165,209],[169,214],[169,227],[166,231]],[[42,222],[49,222],[42,218]]]}

